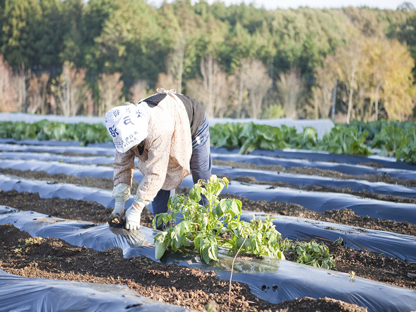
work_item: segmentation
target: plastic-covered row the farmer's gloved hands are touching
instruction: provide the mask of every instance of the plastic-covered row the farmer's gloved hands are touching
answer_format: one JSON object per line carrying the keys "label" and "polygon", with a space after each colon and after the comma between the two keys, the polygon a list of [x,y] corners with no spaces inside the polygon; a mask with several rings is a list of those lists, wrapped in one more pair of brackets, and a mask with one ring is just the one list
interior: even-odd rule
{"label": "plastic-covered row the farmer's gloved hands are touching", "polygon": [[[11,223],[32,236],[60,238],[75,246],[105,250],[117,246],[124,257],[145,256],[155,260],[152,240],[155,230],[141,227],[126,231],[119,227],[89,222],[63,221],[31,211],[0,207],[0,223]],[[229,279],[233,256],[224,250],[218,262],[206,264],[194,252],[166,253],[161,262],[176,263],[204,270],[214,270],[222,279]],[[233,280],[247,283],[252,293],[271,303],[301,297],[329,297],[367,307],[369,311],[411,311],[416,306],[416,292],[360,277],[354,280],[347,273],[328,271],[291,261],[236,260]],[[26,290],[26,289],[25,289]]]}

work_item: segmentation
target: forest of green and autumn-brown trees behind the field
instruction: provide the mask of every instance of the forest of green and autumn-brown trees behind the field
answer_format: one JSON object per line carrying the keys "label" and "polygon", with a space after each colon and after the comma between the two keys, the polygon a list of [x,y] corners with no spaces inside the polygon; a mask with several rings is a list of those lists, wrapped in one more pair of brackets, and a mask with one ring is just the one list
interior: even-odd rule
{"label": "forest of green and autumn-brown trees behind the field", "polygon": [[[325,68],[325,57],[336,56],[342,47],[348,47],[350,34],[354,34],[357,40],[365,38],[366,57],[358,66],[354,83],[347,71],[341,77],[338,70],[337,108],[346,106],[349,120],[372,120],[377,117],[375,110],[380,116],[393,116],[384,104],[399,97],[392,91],[387,101],[389,87],[382,80],[390,67],[384,60],[387,67],[378,66],[377,40],[387,49],[397,38],[416,57],[415,14],[409,4],[397,10],[266,10],[244,3],[226,6],[221,1],[192,4],[191,0],[173,0],[156,8],[146,0],[0,0],[0,52],[14,72],[19,111],[36,106],[32,73],[38,78],[42,72],[56,77],[69,60],[76,68],[85,69],[84,80],[91,87],[85,93],[84,109],[79,111],[85,114],[98,113],[100,75],[119,72],[126,99],[141,100],[156,92],[156,84],[163,84],[166,89],[195,94],[212,116],[259,116],[260,90],[250,86],[253,74],[245,69],[256,61],[264,64],[272,86],[261,96],[261,108],[281,113],[278,104],[283,102],[277,91],[278,87],[282,90],[283,80],[279,76],[294,67],[304,89],[297,103],[298,114],[316,117],[327,115],[333,84],[319,82],[323,73],[316,68]],[[370,42],[374,47],[367,44]],[[340,58],[345,59],[348,57]],[[342,67],[341,62],[336,63]],[[257,75],[258,68],[255,70]],[[393,76],[395,81],[402,80],[395,86],[412,99],[407,76]],[[324,86],[328,89],[323,90]],[[46,103],[50,106],[45,111],[58,112],[56,94],[49,94]],[[310,104],[314,110],[308,108]],[[259,109],[254,111],[255,107]],[[400,114],[409,118],[407,111]]]}

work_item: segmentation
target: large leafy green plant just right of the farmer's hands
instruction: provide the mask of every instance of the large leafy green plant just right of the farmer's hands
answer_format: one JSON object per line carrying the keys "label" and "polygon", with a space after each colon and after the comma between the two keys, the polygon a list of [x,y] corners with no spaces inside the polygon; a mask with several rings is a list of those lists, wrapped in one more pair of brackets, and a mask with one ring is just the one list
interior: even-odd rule
{"label": "large leafy green plant just right of the farmer's hands", "polygon": [[[182,221],[155,236],[156,259],[160,259],[166,247],[176,252],[181,246],[188,246],[193,242],[205,262],[218,260],[218,247],[229,249],[236,253],[266,255],[271,258],[284,259],[279,249],[280,233],[273,225],[273,219],[268,216],[264,220],[253,219],[250,223],[240,220],[241,202],[236,199],[218,200],[218,194],[228,186],[226,178],[218,180],[211,175],[208,182],[198,181],[190,190],[189,196],[175,195],[169,200],[170,213],[157,214],[153,226],[164,222],[175,222],[179,212]],[[206,207],[201,206],[201,194],[208,199]],[[157,220],[157,221],[156,221]]]}

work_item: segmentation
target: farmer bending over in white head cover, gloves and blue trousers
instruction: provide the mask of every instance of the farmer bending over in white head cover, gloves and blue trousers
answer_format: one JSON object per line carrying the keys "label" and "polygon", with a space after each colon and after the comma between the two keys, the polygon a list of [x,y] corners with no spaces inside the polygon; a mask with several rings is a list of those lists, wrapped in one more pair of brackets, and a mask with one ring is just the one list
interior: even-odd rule
{"label": "farmer bending over in white head cover, gloves and blue trousers", "polygon": [[[154,215],[167,212],[167,202],[182,180],[192,172],[194,183],[211,174],[208,119],[196,100],[157,89],[157,94],[131,104],[123,102],[105,114],[105,124],[115,145],[115,207],[110,225],[124,219],[124,203],[130,197],[134,158],[144,178],[134,203],[125,213],[125,228],[140,227],[142,210],[153,201]],[[203,197],[202,203],[206,205]]]}

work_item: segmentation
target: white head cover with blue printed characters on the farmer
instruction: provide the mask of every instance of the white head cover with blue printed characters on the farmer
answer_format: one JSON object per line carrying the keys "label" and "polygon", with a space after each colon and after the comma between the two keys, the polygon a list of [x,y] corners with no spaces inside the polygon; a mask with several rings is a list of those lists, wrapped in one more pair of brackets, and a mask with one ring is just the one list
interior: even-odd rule
{"label": "white head cover with blue printed characters on the farmer", "polygon": [[147,138],[149,106],[146,102],[116,106],[105,113],[105,126],[115,149],[126,153]]}

